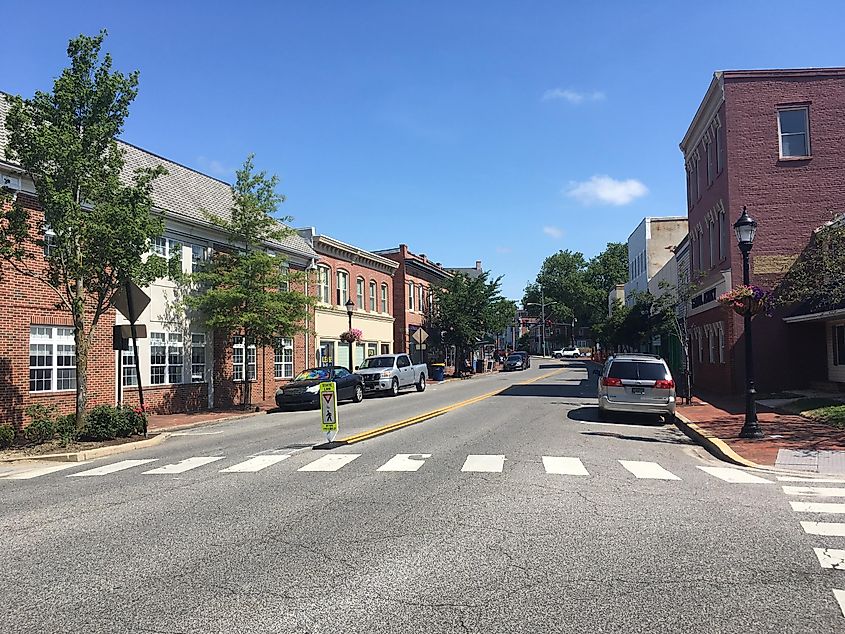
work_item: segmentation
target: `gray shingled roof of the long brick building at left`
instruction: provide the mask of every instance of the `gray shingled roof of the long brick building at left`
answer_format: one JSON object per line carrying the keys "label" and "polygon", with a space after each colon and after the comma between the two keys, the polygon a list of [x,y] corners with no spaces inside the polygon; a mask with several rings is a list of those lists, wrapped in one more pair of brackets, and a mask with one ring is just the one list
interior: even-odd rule
{"label": "gray shingled roof of the long brick building at left", "polygon": [[[5,94],[0,92],[0,160],[6,159],[6,113],[9,104]],[[187,217],[202,223],[207,223],[203,211],[213,213],[222,218],[230,217],[232,208],[232,188],[225,183],[201,172],[174,163],[166,158],[157,156],[139,147],[118,141],[124,150],[125,165],[122,177],[126,182],[131,181],[135,170],[144,167],[162,165],[167,174],[160,176],[153,182],[153,204],[162,211],[174,215]],[[283,250],[295,252],[307,257],[317,254],[311,245],[297,233],[286,237],[280,243],[274,243]]]}

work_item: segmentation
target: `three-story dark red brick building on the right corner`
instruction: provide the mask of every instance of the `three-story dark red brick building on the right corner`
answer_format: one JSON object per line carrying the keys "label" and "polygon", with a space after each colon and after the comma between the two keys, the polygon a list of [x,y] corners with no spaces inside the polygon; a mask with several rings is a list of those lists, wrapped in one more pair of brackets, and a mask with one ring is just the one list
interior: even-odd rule
{"label": "three-story dark red brick building on the right corner", "polygon": [[[773,288],[813,231],[845,210],[845,69],[715,73],[680,149],[687,172],[695,385],[744,385],[742,318],[717,297],[742,282],[732,224],[747,205],[759,223],[751,282]],[[754,319],[760,391],[831,379],[831,329]]]}

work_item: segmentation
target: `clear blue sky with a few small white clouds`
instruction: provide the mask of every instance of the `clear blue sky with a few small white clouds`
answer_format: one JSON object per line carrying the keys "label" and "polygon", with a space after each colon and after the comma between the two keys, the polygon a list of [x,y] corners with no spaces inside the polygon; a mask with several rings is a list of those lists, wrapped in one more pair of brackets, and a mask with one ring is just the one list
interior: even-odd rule
{"label": "clear blue sky with a few small white clouds", "polygon": [[685,212],[678,142],[714,70],[842,65],[845,7],[802,7],[15,3],[0,90],[49,89],[105,27],[141,71],[125,140],[225,180],[254,152],[295,226],[480,259],[519,298],[555,251]]}

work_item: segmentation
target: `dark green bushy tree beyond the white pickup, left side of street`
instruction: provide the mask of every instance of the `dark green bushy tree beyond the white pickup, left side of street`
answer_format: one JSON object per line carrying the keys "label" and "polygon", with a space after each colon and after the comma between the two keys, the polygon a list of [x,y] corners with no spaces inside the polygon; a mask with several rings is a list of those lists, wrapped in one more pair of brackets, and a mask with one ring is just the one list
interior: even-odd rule
{"label": "dark green bushy tree beyond the white pickup, left side of street", "polygon": [[[458,359],[498,326],[493,306],[501,299],[501,282],[501,277],[490,280],[487,271],[475,278],[456,273],[431,287],[431,323],[443,332],[445,345],[455,346]],[[460,372],[460,364],[456,365]]]}

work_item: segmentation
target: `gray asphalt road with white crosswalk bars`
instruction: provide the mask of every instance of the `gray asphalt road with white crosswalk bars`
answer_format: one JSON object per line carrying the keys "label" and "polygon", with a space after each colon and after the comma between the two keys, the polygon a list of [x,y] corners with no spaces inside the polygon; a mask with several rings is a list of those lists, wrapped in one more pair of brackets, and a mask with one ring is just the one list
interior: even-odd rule
{"label": "gray asphalt road with white crosswalk bars", "polygon": [[0,478],[0,631],[845,631],[814,552],[845,537],[790,505],[837,500],[600,423],[580,362],[344,405],[341,436],[502,388],[332,450],[285,412]]}

